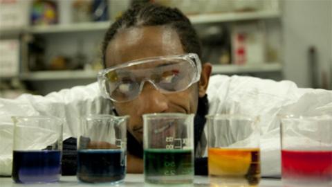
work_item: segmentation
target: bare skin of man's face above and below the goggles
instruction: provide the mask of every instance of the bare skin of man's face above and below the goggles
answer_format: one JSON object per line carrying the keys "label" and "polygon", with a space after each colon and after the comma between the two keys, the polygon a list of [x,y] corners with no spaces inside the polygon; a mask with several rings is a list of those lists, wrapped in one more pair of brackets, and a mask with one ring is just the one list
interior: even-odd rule
{"label": "bare skin of man's face above and below the goggles", "polygon": [[[183,54],[178,34],[171,28],[143,26],[121,30],[107,47],[107,67],[146,57]],[[140,95],[125,103],[113,103],[120,116],[129,115],[127,130],[142,143],[142,114],[178,112],[195,114],[199,97],[198,84],[185,91],[163,94],[145,82]]]}

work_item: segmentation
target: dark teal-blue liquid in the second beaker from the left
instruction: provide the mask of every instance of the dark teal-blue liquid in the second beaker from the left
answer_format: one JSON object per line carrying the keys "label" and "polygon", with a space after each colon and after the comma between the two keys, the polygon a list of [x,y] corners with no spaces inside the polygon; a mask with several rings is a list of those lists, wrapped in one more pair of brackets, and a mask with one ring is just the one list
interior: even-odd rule
{"label": "dark teal-blue liquid in the second beaker from the left", "polygon": [[123,150],[78,150],[77,178],[84,182],[117,182],[126,173]]}

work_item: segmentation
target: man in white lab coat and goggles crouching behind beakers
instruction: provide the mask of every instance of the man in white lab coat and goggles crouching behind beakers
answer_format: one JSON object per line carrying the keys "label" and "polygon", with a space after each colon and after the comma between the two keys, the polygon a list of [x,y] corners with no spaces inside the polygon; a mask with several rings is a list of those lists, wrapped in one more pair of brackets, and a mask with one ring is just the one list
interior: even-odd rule
{"label": "man in white lab coat and goggles crouching behind beakers", "polygon": [[[26,94],[16,100],[0,99],[0,116],[66,118],[64,136],[68,138],[77,135],[80,116],[112,112],[129,115],[128,172],[142,172],[142,114],[196,114],[196,158],[207,156],[205,114],[261,116],[263,175],[279,175],[277,114],[332,113],[331,91],[238,76],[216,75],[210,79],[211,65],[199,60],[201,46],[196,32],[177,9],[148,3],[127,10],[107,31],[102,54],[105,70],[99,75],[100,89],[90,84],[45,97]],[[317,104],[317,98],[323,99]],[[303,106],[306,110],[299,111]],[[3,121],[8,118],[3,117]],[[196,159],[196,174],[206,174],[200,161]]]}

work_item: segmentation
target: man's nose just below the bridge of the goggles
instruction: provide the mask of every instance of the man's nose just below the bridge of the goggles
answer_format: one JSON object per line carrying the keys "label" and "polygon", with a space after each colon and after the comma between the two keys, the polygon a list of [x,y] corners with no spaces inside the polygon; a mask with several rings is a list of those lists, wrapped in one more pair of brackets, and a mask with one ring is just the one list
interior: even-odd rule
{"label": "man's nose just below the bridge of the goggles", "polygon": [[145,82],[138,99],[140,101],[138,114],[161,113],[169,109],[167,97],[150,82]]}

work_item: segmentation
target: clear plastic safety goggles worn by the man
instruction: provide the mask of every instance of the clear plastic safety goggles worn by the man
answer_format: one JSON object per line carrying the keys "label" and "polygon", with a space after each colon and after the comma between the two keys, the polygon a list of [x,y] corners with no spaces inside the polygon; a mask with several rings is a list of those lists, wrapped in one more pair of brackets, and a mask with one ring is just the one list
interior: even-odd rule
{"label": "clear plastic safety goggles worn by the man", "polygon": [[166,94],[183,91],[199,81],[201,69],[194,53],[149,57],[104,69],[98,82],[104,98],[122,103],[138,97],[145,82]]}

